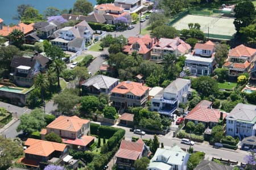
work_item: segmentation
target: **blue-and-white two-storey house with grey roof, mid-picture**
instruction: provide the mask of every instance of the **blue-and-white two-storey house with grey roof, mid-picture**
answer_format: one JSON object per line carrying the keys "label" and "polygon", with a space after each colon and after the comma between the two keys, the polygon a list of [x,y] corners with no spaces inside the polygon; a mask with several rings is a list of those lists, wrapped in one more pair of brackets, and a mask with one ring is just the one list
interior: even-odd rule
{"label": "blue-and-white two-storey house with grey roof, mid-picture", "polygon": [[187,103],[191,80],[177,78],[151,99],[151,111],[172,116],[180,103]]}

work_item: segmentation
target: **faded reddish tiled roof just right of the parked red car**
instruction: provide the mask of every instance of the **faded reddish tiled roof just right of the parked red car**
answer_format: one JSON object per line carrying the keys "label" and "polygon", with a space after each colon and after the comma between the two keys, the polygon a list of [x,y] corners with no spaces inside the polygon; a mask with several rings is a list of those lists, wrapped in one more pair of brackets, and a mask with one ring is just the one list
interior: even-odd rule
{"label": "faded reddish tiled roof just right of the parked red car", "polygon": [[[210,109],[211,101],[202,100],[191,112],[185,117],[187,120],[196,120],[200,122],[218,122],[220,119],[220,111],[217,109]],[[227,116],[223,113],[223,118]]]}

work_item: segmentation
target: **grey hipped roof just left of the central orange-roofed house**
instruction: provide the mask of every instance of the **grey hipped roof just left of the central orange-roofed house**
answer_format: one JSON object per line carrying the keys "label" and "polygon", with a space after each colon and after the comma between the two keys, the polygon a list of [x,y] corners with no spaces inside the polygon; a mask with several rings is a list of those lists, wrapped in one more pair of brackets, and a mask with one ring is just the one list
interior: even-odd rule
{"label": "grey hipped roof just left of the central orange-roofed house", "polygon": [[82,86],[94,86],[97,89],[100,88],[109,88],[112,86],[115,82],[117,82],[119,79],[112,78],[110,76],[105,76],[105,75],[96,75],[88,80]]}

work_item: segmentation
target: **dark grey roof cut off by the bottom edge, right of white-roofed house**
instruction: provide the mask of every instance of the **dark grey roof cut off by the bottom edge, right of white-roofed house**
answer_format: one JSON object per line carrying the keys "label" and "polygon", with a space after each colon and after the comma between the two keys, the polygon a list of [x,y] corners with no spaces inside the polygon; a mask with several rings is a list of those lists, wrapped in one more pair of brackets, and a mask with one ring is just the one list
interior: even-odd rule
{"label": "dark grey roof cut off by the bottom edge, right of white-roofed house", "polygon": [[196,166],[195,170],[232,170],[233,167],[228,165],[221,165],[218,163],[211,162],[209,160],[202,160],[199,165]]}

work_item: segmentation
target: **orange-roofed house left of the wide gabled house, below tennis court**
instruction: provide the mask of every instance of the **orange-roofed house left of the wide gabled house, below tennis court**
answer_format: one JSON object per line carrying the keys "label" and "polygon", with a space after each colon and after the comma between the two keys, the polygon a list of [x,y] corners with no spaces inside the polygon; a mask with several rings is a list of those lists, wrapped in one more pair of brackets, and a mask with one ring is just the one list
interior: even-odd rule
{"label": "orange-roofed house left of the wide gabled house, below tennis court", "polygon": [[156,38],[151,39],[150,35],[129,37],[128,45],[123,46],[123,53],[131,54],[133,51],[137,51],[138,54],[143,56],[143,59],[150,59],[151,50],[156,44]]}

